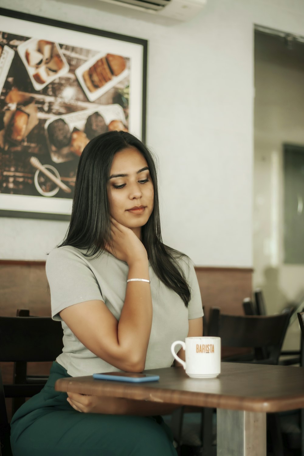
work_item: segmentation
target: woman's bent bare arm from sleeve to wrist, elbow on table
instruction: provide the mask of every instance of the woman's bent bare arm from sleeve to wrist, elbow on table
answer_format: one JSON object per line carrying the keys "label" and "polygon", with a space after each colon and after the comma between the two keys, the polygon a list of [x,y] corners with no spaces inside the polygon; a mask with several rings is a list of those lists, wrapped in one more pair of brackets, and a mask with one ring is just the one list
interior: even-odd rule
{"label": "woman's bent bare arm from sleeve to wrist, elbow on table", "polygon": [[[149,280],[147,255],[129,264],[130,279]],[[127,372],[144,370],[152,326],[152,299],[148,282],[128,282],[119,321],[103,301],[85,301],[60,312],[75,336],[98,358]]]}

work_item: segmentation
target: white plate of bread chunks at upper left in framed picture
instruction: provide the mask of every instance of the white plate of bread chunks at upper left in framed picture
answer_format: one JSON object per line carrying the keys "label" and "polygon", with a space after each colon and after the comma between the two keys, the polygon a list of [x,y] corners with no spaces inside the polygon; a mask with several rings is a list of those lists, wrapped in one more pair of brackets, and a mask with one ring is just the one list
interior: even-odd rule
{"label": "white plate of bread chunks at upper left in framed picture", "polygon": [[[43,52],[39,43],[46,43]],[[35,90],[41,90],[54,79],[59,78],[69,71],[69,65],[62,54],[60,46],[54,41],[30,38],[17,47],[26,71],[30,76]],[[40,58],[42,56],[42,58]]]}

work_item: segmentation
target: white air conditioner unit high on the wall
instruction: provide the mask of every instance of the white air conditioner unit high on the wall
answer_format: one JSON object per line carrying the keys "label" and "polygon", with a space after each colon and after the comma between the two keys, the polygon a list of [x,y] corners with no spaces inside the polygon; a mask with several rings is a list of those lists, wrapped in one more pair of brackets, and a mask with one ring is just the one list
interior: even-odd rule
{"label": "white air conditioner unit high on the wall", "polygon": [[[135,19],[163,24],[189,21],[207,0],[98,0],[101,8]],[[103,8],[103,6],[104,8]],[[106,5],[108,7],[106,7]],[[169,20],[169,21],[168,21]],[[170,22],[171,20],[171,22]]]}

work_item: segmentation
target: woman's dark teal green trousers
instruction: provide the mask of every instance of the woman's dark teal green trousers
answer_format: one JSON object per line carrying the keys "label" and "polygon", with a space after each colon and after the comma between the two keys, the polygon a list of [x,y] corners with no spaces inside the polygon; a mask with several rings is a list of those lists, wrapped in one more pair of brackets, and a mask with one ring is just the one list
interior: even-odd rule
{"label": "woman's dark teal green trousers", "polygon": [[172,435],[160,416],[80,413],[55,391],[69,377],[58,363],[39,394],[18,409],[11,421],[14,456],[176,456]]}

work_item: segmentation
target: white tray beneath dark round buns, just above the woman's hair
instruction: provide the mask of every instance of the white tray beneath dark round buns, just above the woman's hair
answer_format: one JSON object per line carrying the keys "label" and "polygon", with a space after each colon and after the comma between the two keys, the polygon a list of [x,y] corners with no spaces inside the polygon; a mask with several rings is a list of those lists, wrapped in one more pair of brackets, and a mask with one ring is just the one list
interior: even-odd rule
{"label": "white tray beneath dark round buns, just above the woman's hair", "polygon": [[[71,142],[69,145],[65,145],[62,148],[57,148],[52,144],[52,140],[49,137],[48,126],[54,122],[56,119],[62,119],[68,126],[70,134],[71,134],[71,141],[72,141],[72,133],[73,130],[78,130],[80,132],[85,133],[86,123],[88,117],[94,113],[99,113],[105,122],[105,131],[107,131],[108,125],[113,120],[121,121],[124,125],[126,125],[126,118],[124,115],[124,110],[119,104],[108,104],[97,106],[91,109],[84,109],[83,111],[78,111],[76,113],[71,114],[64,114],[61,116],[54,116],[52,119],[48,119],[44,125],[45,134],[46,134],[46,142],[48,145],[48,149],[52,158],[52,161],[55,163],[62,163],[64,161],[69,161],[75,159],[75,157],[79,154],[75,154],[71,152]],[[81,155],[81,154],[80,154]]]}

